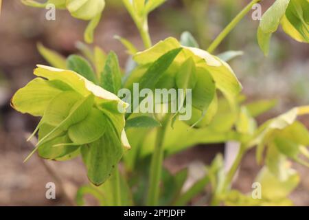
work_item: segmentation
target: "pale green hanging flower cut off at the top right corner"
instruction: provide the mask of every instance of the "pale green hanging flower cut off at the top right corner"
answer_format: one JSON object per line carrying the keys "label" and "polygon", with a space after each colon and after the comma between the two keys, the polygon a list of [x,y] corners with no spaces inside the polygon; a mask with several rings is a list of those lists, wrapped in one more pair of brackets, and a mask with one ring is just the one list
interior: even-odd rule
{"label": "pale green hanging flower cut off at the top right corner", "polygon": [[271,35],[280,24],[296,41],[309,43],[309,1],[277,0],[268,8],[258,28],[258,43],[264,54],[268,54]]}

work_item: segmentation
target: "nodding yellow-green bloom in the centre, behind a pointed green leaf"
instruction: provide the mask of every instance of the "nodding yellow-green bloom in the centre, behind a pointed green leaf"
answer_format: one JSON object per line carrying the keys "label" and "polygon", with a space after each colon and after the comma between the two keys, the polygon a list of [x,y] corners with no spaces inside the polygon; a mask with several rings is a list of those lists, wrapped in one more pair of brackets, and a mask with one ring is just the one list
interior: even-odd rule
{"label": "nodding yellow-green bloom in the centre, behind a pointed green leaf", "polygon": [[194,126],[205,126],[216,114],[217,89],[230,102],[242,89],[231,67],[217,56],[196,47],[183,46],[170,37],[133,56],[139,67],[130,75],[125,87],[130,88],[138,82],[143,71],[163,54],[177,49],[181,51],[155,88],[192,89],[192,119],[186,122]]}

